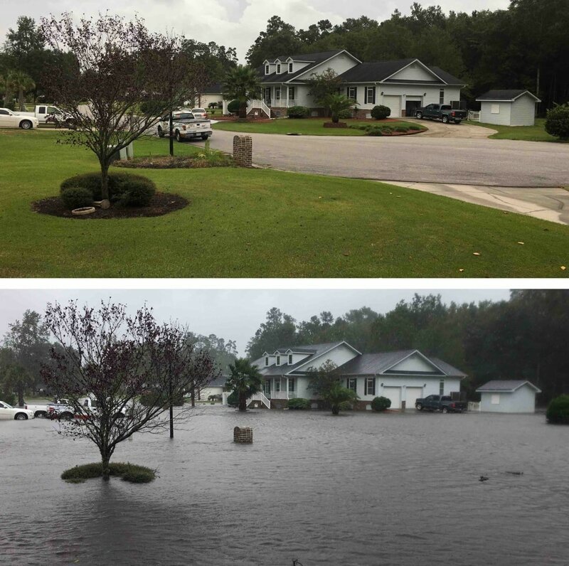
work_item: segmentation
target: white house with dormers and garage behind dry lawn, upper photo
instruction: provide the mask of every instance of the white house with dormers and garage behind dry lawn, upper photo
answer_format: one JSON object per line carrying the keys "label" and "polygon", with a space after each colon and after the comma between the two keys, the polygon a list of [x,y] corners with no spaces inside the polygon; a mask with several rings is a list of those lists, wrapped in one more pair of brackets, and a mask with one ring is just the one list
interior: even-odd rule
{"label": "white house with dormers and garage behind dry lawn, upper photo", "polygon": [[302,55],[282,55],[267,59],[259,68],[263,105],[251,104],[250,113],[271,112],[286,116],[287,108],[305,106],[313,116],[324,115],[309,95],[307,80],[314,74],[332,69],[342,80],[341,92],[359,103],[356,117],[371,117],[377,105],[388,106],[390,117],[414,114],[416,108],[430,103],[459,105],[464,82],[418,59],[363,63],[346,50]]}

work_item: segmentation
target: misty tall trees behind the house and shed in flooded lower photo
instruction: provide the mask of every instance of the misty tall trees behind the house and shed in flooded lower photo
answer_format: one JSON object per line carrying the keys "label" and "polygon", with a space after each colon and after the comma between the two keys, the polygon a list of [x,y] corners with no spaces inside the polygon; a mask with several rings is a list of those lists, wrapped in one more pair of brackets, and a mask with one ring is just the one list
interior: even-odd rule
{"label": "misty tall trees behind the house and shed in flooded lower photo", "polygon": [[386,314],[367,306],[336,317],[329,311],[297,322],[273,308],[247,346],[251,359],[282,346],[346,340],[362,353],[418,349],[464,370],[470,398],[492,379],[523,379],[543,393],[569,393],[569,291],[512,291],[509,301],[442,303],[415,295]]}

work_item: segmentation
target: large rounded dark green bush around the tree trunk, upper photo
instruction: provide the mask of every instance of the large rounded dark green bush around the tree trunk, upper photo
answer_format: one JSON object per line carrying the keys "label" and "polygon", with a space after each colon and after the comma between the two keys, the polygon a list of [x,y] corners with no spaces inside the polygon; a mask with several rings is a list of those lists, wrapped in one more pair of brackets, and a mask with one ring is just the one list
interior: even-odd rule
{"label": "large rounded dark green bush around the tree trunk, upper photo", "polygon": [[[65,179],[60,186],[61,196],[70,188],[85,188],[92,201],[101,200],[101,174],[83,173]],[[147,177],[130,173],[109,173],[109,197],[124,206],[146,206],[156,193],[156,186]],[[77,207],[75,207],[77,208]]]}

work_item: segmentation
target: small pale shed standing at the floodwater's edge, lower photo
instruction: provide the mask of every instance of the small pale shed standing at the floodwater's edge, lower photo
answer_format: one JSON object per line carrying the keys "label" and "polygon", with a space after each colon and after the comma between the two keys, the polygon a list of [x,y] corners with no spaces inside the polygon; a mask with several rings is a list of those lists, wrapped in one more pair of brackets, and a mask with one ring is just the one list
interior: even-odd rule
{"label": "small pale shed standing at the floodwater's edge, lower photo", "polygon": [[486,412],[536,412],[541,390],[526,380],[493,380],[477,389],[480,410]]}

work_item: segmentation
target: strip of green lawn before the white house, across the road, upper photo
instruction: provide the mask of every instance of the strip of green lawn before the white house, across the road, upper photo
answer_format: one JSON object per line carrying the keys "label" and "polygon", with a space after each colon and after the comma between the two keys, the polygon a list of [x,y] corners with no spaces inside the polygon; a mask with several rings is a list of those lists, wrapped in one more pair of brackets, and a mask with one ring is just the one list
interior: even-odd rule
{"label": "strip of green lawn before the white house, across the road, upper photo", "polygon": [[[366,132],[354,128],[325,128],[322,124],[330,122],[329,118],[282,118],[270,122],[218,122],[213,129],[225,129],[230,132],[245,132],[248,134],[304,134],[305,136],[364,136]],[[351,125],[373,125],[394,128],[397,126],[417,126],[411,122],[384,120],[341,120]],[[422,127],[426,129],[424,126]]]}

